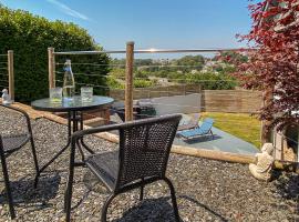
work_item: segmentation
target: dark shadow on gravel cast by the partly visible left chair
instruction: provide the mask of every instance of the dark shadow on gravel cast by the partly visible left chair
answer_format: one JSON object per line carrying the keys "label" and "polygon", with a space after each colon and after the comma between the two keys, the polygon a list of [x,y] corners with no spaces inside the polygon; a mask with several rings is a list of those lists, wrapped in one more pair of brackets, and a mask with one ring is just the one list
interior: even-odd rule
{"label": "dark shadow on gravel cast by the partly visible left chair", "polygon": [[[51,206],[47,202],[54,199],[59,191],[59,183],[61,178],[58,173],[41,176],[39,185],[34,189],[34,176],[24,176],[18,181],[11,181],[12,198],[16,205],[22,205],[22,208],[30,208],[32,205],[39,209]],[[7,203],[6,190],[0,194],[0,204]],[[37,209],[37,210],[39,210]]]}

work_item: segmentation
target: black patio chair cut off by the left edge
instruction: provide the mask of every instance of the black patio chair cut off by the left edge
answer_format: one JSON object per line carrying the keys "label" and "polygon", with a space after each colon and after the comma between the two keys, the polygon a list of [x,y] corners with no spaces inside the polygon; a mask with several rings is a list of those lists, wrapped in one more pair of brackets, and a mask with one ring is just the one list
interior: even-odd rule
{"label": "black patio chair cut off by the left edge", "polygon": [[37,173],[39,172],[39,164],[38,164],[38,158],[37,158],[37,151],[34,147],[34,141],[32,137],[32,129],[31,129],[31,123],[30,123],[30,118],[29,115],[17,108],[13,107],[8,107],[8,105],[2,105],[6,109],[13,110],[16,112],[21,113],[27,121],[27,127],[28,127],[28,132],[21,133],[21,134],[11,134],[11,135],[1,135],[0,134],[0,157],[1,157],[1,165],[2,165],[2,171],[3,171],[3,179],[6,183],[6,190],[7,190],[7,198],[8,198],[8,203],[9,203],[9,211],[10,211],[10,216],[11,219],[16,218],[16,212],[13,208],[13,200],[12,200],[12,194],[11,194],[11,188],[10,188],[10,181],[9,181],[9,174],[8,174],[8,168],[7,168],[7,161],[6,159],[24,147],[27,142],[30,141],[31,143],[31,149],[32,149],[32,154],[33,154],[33,161],[34,161],[34,167]]}

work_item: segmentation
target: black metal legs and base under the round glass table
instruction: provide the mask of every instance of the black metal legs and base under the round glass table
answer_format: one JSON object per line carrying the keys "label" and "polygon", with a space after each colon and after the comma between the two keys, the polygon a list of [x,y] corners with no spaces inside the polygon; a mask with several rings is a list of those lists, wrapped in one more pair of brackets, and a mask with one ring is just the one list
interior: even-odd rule
{"label": "black metal legs and base under the round glass table", "polygon": [[[80,125],[80,129],[79,129]],[[39,169],[39,173],[35,175],[34,188],[38,186],[39,178],[41,173],[54,162],[71,145],[71,137],[74,132],[83,130],[83,111],[70,110],[68,111],[68,143],[64,145],[50,161],[48,161],[43,167]],[[83,138],[76,142],[76,147],[82,157],[82,162],[76,162],[75,167],[84,165],[84,152],[82,147],[91,154],[94,154],[94,151],[90,149],[83,141]]]}

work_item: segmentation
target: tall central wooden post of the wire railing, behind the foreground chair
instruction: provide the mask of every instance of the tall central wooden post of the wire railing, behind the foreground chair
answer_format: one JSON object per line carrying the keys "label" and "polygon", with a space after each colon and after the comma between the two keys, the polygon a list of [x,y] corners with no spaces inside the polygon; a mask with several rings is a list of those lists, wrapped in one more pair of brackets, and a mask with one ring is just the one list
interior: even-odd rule
{"label": "tall central wooden post of the wire railing, behind the foreground chair", "polygon": [[127,42],[125,63],[125,121],[133,120],[133,63],[134,42]]}

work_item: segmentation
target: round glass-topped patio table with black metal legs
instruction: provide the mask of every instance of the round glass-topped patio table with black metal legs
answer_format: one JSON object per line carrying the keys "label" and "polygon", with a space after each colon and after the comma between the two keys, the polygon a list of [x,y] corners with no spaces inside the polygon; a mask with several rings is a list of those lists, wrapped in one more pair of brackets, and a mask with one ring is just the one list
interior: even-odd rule
{"label": "round glass-topped patio table with black metal legs", "polygon": [[[40,174],[56,160],[71,144],[71,135],[78,130],[83,130],[83,111],[93,109],[105,109],[114,102],[113,98],[93,95],[89,102],[82,101],[81,97],[74,97],[73,100],[63,100],[60,103],[51,102],[50,98],[35,100],[31,102],[31,107],[39,111],[49,112],[66,112],[68,113],[68,143],[43,167],[40,168],[37,174],[34,185],[37,186]],[[80,127],[80,128],[79,128]],[[90,153],[94,153],[82,140],[78,141],[76,147],[84,161],[84,153],[82,147]],[[76,165],[82,165],[80,162]]]}

